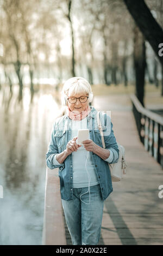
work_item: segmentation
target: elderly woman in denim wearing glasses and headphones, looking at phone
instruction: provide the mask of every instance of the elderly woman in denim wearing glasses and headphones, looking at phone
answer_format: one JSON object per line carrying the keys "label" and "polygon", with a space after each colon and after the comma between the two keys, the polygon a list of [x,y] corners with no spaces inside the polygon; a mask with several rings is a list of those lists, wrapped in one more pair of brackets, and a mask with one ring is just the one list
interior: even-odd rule
{"label": "elderly woman in denim wearing glasses and headphones, looking at phone", "polygon": [[[59,168],[61,203],[73,245],[98,245],[104,200],[112,192],[108,163],[117,163],[118,145],[109,115],[101,112],[106,148],[102,147],[97,111],[89,105],[93,96],[89,82],[68,79],[62,96],[66,114],[54,122],[47,166]],[[79,129],[89,129],[83,144],[77,141]]]}

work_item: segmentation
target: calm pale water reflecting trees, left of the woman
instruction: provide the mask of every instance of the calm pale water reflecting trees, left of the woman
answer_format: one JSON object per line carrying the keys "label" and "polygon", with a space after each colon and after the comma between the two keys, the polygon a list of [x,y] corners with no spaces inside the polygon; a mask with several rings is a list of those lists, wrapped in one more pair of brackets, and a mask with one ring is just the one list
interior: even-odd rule
{"label": "calm pale water reflecting trees, left of the woman", "polygon": [[9,90],[0,91],[0,245],[41,245],[45,156],[60,106],[51,93],[43,91],[30,104],[28,88],[20,106],[17,92],[15,87],[5,111],[3,99],[8,99]]}

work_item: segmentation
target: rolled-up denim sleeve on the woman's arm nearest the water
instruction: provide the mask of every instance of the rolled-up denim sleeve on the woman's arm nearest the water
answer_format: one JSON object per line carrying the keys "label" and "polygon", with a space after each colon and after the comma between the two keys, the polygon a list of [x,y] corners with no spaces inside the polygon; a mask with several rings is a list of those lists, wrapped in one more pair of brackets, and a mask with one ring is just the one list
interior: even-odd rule
{"label": "rolled-up denim sleeve on the woman's arm nearest the water", "polygon": [[58,146],[57,146],[57,141],[55,139],[55,123],[53,125],[53,129],[52,129],[52,132],[51,132],[51,140],[49,142],[49,145],[48,145],[48,151],[46,153],[46,163],[47,163],[47,166],[48,168],[50,169],[54,169],[54,168],[58,168],[60,166],[64,166],[65,164],[62,163],[62,164],[57,164],[57,162],[55,162],[53,159],[54,159],[54,156],[56,154],[58,154]]}

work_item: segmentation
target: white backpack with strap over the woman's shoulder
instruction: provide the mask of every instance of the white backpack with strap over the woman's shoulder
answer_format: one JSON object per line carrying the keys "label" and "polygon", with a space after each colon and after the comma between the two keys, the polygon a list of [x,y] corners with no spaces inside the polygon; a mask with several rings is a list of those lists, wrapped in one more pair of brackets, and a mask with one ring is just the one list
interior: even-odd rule
{"label": "white backpack with strap over the woman's shoulder", "polygon": [[[102,138],[103,148],[105,148],[105,141],[104,141],[103,129],[102,129],[101,122],[100,122],[100,119],[99,119],[99,112],[100,111],[97,112],[97,123],[98,123],[99,132],[100,132],[101,138]],[[126,160],[124,158],[125,149],[120,144],[118,144],[118,149],[119,149],[118,162],[114,163],[114,164],[108,163],[109,169],[110,169],[110,172],[111,172],[111,180],[112,181],[120,181],[122,179],[122,176],[124,174],[126,174],[127,164],[126,164]]]}

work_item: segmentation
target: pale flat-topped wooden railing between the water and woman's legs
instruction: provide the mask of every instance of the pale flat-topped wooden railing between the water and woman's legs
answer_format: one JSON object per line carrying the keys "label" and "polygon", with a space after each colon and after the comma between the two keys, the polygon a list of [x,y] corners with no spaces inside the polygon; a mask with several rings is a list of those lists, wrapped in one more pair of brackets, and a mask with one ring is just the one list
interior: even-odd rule
{"label": "pale flat-topped wooden railing between the water and woman's legs", "polygon": [[58,170],[46,169],[42,245],[66,245]]}

